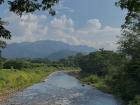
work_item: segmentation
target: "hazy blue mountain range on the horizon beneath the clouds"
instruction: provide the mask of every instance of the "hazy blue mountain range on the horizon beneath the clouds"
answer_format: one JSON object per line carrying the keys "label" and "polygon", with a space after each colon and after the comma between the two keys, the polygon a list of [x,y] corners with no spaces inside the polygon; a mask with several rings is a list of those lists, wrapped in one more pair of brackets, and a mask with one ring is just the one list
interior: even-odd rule
{"label": "hazy blue mountain range on the horizon beneath the clouds", "polygon": [[69,45],[59,41],[41,40],[36,42],[23,42],[8,44],[2,50],[6,58],[44,58],[61,59],[76,53],[89,53],[96,51],[88,46]]}

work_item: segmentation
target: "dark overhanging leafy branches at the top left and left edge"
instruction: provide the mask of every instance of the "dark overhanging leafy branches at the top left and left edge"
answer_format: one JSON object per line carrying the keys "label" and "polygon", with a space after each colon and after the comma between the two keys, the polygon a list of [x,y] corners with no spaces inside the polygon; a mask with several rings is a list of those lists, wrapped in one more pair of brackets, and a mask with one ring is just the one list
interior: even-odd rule
{"label": "dark overhanging leafy branches at the top left and left edge", "polygon": [[[35,11],[47,10],[50,15],[54,16],[55,11],[52,7],[59,2],[59,0],[0,0],[0,5],[6,2],[9,5],[9,11],[22,16],[25,13],[33,13]],[[0,18],[0,48],[4,48],[6,43],[2,39],[10,39],[11,33],[4,25],[6,22]]]}

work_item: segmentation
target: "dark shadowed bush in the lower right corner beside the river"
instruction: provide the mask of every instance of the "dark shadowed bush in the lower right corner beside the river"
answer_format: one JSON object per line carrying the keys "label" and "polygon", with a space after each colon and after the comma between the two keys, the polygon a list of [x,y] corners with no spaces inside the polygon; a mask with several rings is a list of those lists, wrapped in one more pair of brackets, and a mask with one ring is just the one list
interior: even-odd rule
{"label": "dark shadowed bush in the lower right corner beside the river", "polygon": [[[113,93],[126,103],[140,94],[140,60],[129,61],[108,78]],[[135,105],[135,104],[134,104]]]}

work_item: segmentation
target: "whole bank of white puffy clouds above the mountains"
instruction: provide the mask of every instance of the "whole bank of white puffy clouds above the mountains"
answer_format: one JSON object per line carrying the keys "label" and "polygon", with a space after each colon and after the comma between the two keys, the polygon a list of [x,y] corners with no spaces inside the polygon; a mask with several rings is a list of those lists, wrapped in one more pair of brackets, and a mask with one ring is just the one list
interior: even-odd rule
{"label": "whole bank of white puffy clouds above the mountains", "polygon": [[120,28],[103,26],[98,19],[89,19],[77,28],[71,18],[63,15],[48,20],[45,15],[28,14],[21,18],[9,15],[9,29],[14,34],[12,42],[57,40],[72,45],[87,45],[95,48],[115,50]]}

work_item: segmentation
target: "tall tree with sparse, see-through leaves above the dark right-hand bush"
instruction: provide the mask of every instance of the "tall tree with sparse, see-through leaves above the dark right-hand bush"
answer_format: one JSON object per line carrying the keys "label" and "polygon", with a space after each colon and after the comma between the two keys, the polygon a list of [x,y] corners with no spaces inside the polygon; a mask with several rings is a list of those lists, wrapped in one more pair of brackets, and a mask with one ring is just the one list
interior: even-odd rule
{"label": "tall tree with sparse, see-through leaves above the dark right-hand bush", "polygon": [[116,5],[127,9],[119,41],[120,50],[132,58],[140,58],[140,0],[120,0]]}

